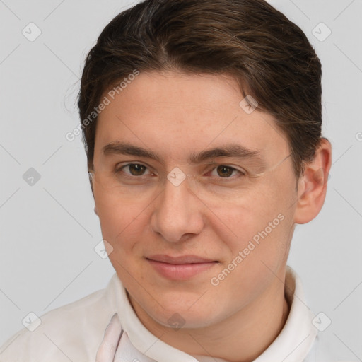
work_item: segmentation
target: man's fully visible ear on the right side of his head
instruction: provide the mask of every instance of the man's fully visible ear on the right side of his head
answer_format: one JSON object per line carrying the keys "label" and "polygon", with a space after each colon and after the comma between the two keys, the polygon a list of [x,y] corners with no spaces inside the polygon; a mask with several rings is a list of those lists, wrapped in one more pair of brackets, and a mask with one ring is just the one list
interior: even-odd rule
{"label": "man's fully visible ear on the right side of his head", "polygon": [[332,147],[325,138],[315,151],[315,157],[305,164],[305,171],[298,180],[298,202],[295,223],[308,223],[319,214],[325,202],[327,181],[332,163]]}

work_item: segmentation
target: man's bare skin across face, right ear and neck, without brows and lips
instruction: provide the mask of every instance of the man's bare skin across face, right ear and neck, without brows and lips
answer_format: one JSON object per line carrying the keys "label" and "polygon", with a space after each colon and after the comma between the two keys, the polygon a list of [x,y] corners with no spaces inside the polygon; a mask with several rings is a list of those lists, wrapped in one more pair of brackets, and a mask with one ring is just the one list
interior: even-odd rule
{"label": "man's bare skin across face, right ear and neck, without brows and lips", "polygon": [[[288,141],[275,120],[258,108],[247,114],[239,105],[243,98],[227,75],[139,74],[98,117],[92,181],[103,238],[113,248],[110,261],[141,322],[188,354],[235,362],[262,354],[286,322],[281,281],[293,228],[319,213],[331,165],[330,144],[321,139],[297,180]],[[146,148],[160,159],[105,155],[103,147],[115,141]],[[230,157],[188,161],[192,153],[231,143],[259,151],[263,164]],[[130,167],[115,172],[127,163],[146,166],[144,174]],[[245,175],[231,171],[224,177],[219,165]],[[175,167],[186,177],[178,186],[167,179]],[[283,221],[212,285],[211,278],[280,214]],[[154,254],[216,262],[175,281],[151,266],[146,257]],[[184,323],[180,329],[168,322],[175,313]]]}

